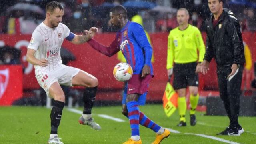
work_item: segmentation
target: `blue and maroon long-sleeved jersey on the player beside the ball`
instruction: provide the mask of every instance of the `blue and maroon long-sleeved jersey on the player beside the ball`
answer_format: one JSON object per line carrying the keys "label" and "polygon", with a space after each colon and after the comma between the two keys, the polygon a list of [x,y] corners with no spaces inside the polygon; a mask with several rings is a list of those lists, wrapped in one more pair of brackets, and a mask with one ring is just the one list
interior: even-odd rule
{"label": "blue and maroon long-sleeved jersey on the player beside the ball", "polygon": [[153,50],[143,27],[136,22],[128,21],[117,32],[116,38],[110,46],[103,46],[94,39],[89,40],[88,44],[107,56],[113,56],[121,50],[126,58],[126,62],[132,66],[133,74],[141,74],[142,68],[146,64],[150,66],[150,74],[153,75],[151,63]]}

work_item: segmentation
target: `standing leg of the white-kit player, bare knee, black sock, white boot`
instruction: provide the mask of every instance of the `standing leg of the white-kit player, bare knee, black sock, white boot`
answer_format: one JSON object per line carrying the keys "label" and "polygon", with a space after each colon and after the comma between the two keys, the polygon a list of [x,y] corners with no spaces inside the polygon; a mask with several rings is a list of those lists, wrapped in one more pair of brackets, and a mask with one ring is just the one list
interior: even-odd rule
{"label": "standing leg of the white-kit player, bare knee, black sock, white boot", "polygon": [[58,82],[54,82],[49,88],[49,95],[54,99],[51,111],[51,133],[48,144],[63,144],[58,138],[58,126],[62,116],[62,110],[65,104],[65,95]]}

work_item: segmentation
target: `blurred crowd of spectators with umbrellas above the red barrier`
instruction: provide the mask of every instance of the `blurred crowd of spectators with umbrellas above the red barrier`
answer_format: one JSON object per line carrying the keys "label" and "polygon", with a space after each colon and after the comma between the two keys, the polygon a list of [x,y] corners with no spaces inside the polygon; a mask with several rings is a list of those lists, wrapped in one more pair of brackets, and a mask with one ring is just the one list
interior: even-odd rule
{"label": "blurred crowd of spectators with umbrellas above the red barrier", "polygon": [[[51,0],[0,0],[0,33],[32,34],[45,15],[44,7]],[[58,0],[65,8],[63,23],[74,32],[82,32],[92,26],[99,32],[115,32],[108,22],[108,10],[127,0]],[[207,0],[142,0],[156,4],[155,8],[128,8],[128,19],[140,14],[144,28],[148,32],[169,32],[178,26],[175,15],[178,8],[187,8],[189,23],[205,31],[204,20],[209,14]],[[230,8],[240,20],[242,30],[255,31],[255,9],[249,6],[233,6],[225,0],[224,6]],[[71,27],[72,26],[72,27]]]}

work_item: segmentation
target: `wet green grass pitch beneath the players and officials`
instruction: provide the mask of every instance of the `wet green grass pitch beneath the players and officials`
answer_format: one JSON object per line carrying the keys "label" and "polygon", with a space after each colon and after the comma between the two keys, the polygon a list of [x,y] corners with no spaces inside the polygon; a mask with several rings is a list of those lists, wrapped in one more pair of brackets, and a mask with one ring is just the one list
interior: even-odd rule
{"label": "wet green grass pitch beneath the players and officials", "polygon": [[[82,111],[82,108],[78,110]],[[177,111],[167,118],[160,104],[147,104],[141,106],[140,110],[160,126],[180,132],[171,133],[161,144],[256,144],[256,117],[239,117],[239,122],[245,130],[240,136],[217,136],[216,133],[228,126],[227,116],[204,116],[203,112],[196,112],[198,124],[190,126],[187,111],[187,126],[180,128],[176,126],[179,121]],[[125,122],[105,119],[98,114],[120,118]],[[80,114],[64,108],[58,128],[58,136],[64,144],[122,144],[130,138],[130,125],[128,119],[121,114],[121,106],[94,107],[93,117],[102,126],[100,131],[80,125],[79,117]],[[47,144],[49,133],[50,109],[26,106],[0,107],[0,144]],[[222,141],[194,134],[214,136]],[[140,137],[143,144],[151,144],[155,133],[140,126]]]}

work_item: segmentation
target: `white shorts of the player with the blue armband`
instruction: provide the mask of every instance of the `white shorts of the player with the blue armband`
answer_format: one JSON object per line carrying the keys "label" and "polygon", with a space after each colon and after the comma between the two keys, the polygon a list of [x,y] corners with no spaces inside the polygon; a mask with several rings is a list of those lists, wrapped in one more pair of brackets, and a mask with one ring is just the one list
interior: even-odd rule
{"label": "white shorts of the player with the blue armband", "polygon": [[58,67],[56,70],[50,72],[38,72],[36,79],[39,85],[45,90],[47,96],[49,95],[49,88],[54,82],[58,82],[60,85],[72,86],[72,78],[78,74],[79,68],[74,68],[72,66],[62,66]]}

